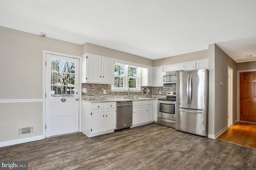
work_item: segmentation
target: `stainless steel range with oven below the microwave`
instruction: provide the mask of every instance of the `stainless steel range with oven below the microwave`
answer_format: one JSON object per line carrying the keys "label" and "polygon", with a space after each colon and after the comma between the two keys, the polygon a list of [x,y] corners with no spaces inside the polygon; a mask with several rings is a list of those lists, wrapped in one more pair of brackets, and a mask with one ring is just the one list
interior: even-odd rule
{"label": "stainless steel range with oven below the microwave", "polygon": [[158,99],[157,124],[175,128],[176,91],[168,91],[166,99]]}

